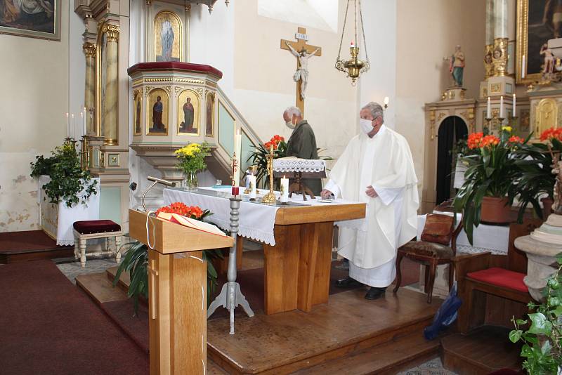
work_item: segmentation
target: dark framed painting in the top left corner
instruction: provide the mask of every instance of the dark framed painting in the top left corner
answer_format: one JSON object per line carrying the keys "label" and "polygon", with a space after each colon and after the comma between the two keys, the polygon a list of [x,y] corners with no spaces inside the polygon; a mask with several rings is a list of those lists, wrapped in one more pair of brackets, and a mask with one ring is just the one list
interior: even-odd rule
{"label": "dark framed painting in the top left corner", "polygon": [[0,1],[0,34],[60,41],[60,0]]}

